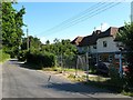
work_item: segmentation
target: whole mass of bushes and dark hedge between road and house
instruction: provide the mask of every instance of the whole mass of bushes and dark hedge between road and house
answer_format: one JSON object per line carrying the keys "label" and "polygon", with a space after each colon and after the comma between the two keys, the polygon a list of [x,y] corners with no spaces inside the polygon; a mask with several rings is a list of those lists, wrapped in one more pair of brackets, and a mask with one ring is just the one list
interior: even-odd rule
{"label": "whole mass of bushes and dark hedge between road and house", "polygon": [[74,68],[76,61],[76,49],[70,43],[70,40],[59,41],[54,43],[45,42],[42,44],[40,39],[32,36],[29,37],[29,51],[27,50],[27,38],[23,38],[21,51],[18,53],[20,61],[38,64],[38,68],[63,67]]}

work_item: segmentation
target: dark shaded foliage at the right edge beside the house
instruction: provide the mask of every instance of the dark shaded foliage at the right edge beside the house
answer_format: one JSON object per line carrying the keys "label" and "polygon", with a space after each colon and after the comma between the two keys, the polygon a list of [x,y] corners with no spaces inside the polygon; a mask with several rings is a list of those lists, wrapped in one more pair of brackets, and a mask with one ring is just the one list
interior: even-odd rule
{"label": "dark shaded foliage at the right edge beside the house", "polygon": [[117,39],[124,43],[130,72],[127,73],[129,84],[133,84],[133,22],[125,23],[123,30],[117,33]]}

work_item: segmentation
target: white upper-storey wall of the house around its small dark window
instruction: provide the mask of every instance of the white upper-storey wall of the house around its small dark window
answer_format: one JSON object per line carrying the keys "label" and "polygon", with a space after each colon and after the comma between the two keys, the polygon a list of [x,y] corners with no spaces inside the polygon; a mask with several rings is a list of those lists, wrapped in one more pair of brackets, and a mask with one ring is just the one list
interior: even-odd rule
{"label": "white upper-storey wall of the house around its small dark window", "polygon": [[[103,41],[108,42],[108,47],[103,47]],[[98,49],[98,52],[115,52],[115,51],[119,51],[119,48],[116,47],[116,42],[114,42],[113,37],[105,37],[105,38],[98,39],[96,49]]]}

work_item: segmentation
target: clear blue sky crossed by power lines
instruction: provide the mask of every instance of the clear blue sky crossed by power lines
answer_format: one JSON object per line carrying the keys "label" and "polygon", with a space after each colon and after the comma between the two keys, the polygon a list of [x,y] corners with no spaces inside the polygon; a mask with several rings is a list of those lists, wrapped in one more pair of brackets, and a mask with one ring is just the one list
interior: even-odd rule
{"label": "clear blue sky crossed by power lines", "polygon": [[[94,29],[122,27],[130,22],[131,16],[130,2],[18,2],[13,8],[19,11],[22,6],[29,36],[43,43],[47,40],[52,43],[55,38],[73,40],[78,36],[90,36]],[[22,29],[25,33],[27,28]]]}

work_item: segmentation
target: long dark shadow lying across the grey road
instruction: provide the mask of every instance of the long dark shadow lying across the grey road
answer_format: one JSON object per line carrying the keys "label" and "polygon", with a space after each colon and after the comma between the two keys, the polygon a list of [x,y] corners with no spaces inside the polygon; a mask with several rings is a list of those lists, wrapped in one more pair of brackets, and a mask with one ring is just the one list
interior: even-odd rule
{"label": "long dark shadow lying across the grey road", "polygon": [[81,82],[75,82],[75,83],[53,83],[53,82],[50,82],[49,84],[41,86],[41,87],[49,88],[49,89],[54,89],[54,90],[58,90],[58,91],[74,92],[74,93],[76,93],[76,92],[91,93],[91,94],[106,93],[106,92],[112,93],[109,90],[99,89],[99,88],[94,88],[94,87],[91,87],[91,86],[86,87]]}

